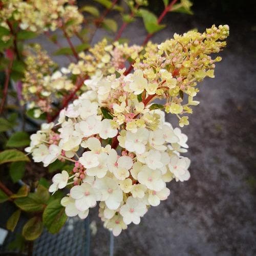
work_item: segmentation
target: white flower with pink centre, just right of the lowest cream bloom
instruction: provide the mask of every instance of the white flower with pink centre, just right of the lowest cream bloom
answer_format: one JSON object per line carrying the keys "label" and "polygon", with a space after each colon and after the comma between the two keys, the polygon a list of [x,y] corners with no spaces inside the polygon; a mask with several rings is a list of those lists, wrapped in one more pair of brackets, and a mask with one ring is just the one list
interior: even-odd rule
{"label": "white flower with pink centre, just right of the lowest cream bloom", "polygon": [[127,198],[125,204],[120,208],[120,214],[123,216],[123,222],[129,225],[131,222],[134,224],[140,223],[140,217],[144,216],[147,208],[146,204],[136,198]]}

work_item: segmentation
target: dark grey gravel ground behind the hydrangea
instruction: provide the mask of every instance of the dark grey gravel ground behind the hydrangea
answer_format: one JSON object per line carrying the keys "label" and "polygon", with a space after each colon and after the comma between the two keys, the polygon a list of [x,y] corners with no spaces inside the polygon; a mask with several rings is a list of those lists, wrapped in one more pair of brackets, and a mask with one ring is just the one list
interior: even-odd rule
{"label": "dark grey gravel ground behind the hydrangea", "polygon": [[[233,19],[236,15],[230,13],[217,16],[206,5],[194,16],[169,14],[164,19],[166,28],[153,37],[161,42],[174,32],[203,31],[214,23],[230,25],[216,78],[201,83],[197,97],[201,103],[183,129],[189,138],[191,178],[168,184],[168,200],[152,207],[139,225],[129,225],[115,239],[115,255],[256,255],[256,24],[242,17]],[[137,21],[123,36],[141,44],[145,34]],[[94,41],[102,36],[98,30]],[[54,51],[44,40],[41,43]],[[108,255],[109,233],[96,209],[91,218],[98,227],[92,255]]]}

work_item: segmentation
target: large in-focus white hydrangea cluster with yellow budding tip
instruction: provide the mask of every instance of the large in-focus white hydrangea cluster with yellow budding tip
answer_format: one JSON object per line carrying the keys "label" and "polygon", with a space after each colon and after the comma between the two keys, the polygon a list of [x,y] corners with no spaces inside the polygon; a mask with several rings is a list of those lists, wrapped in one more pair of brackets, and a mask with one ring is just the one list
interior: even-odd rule
{"label": "large in-focus white hydrangea cluster with yellow budding tip", "polygon": [[[180,126],[188,124],[180,115],[199,103],[193,100],[197,82],[213,77],[219,60],[208,55],[225,46],[218,39],[227,35],[227,26],[212,26],[203,34],[148,44],[133,74],[125,75],[125,68],[112,75],[97,72],[84,81],[87,91],[60,112],[55,127],[43,124],[31,136],[26,151],[34,161],[74,163],[71,172],[56,174],[49,188],[52,193],[71,188],[61,200],[68,216],[86,218],[99,202],[104,226],[118,236],[167,199],[167,182],[189,179],[190,160],[181,155],[187,136],[165,120],[165,112],[175,114]],[[183,94],[189,96],[186,104]],[[166,102],[153,103],[157,98]]]}

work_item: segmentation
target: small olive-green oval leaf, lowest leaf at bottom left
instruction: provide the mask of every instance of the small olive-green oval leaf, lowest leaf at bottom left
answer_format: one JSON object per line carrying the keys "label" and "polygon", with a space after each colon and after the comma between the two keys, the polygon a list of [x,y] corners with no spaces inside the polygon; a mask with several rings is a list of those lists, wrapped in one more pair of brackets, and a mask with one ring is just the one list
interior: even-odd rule
{"label": "small olive-green oval leaf, lowest leaf at bottom left", "polygon": [[38,217],[33,217],[24,225],[22,235],[26,240],[33,241],[40,236],[43,229],[42,221]]}

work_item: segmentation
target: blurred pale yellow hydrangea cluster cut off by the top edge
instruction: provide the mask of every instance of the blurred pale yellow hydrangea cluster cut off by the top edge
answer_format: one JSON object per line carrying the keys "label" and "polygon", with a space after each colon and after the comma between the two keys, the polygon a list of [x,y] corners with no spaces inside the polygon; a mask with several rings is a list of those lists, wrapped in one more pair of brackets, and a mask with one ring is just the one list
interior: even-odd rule
{"label": "blurred pale yellow hydrangea cluster cut off by the top edge", "polygon": [[2,0],[0,23],[8,28],[6,20],[14,18],[19,21],[20,29],[37,33],[67,25],[67,33],[72,36],[80,31],[83,21],[74,3],[73,0]]}

